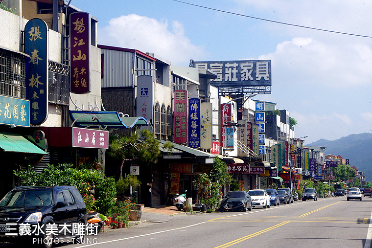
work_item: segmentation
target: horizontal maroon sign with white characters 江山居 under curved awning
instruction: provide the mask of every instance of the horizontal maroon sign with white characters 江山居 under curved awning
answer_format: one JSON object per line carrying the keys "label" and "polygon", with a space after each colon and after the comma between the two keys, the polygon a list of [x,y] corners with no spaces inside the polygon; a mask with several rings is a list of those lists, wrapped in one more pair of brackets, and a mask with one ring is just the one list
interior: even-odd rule
{"label": "horizontal maroon sign with white characters \u6c5f\u5c71\u5c45 under curved awning", "polygon": [[72,147],[109,148],[109,132],[86,128],[72,128]]}

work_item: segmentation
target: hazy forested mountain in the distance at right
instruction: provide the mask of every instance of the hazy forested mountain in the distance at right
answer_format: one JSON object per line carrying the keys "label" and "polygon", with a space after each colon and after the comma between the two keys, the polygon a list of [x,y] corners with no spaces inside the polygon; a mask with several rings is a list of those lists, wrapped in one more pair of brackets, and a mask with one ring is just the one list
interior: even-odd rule
{"label": "hazy forested mountain in the distance at right", "polygon": [[[349,159],[350,166],[363,171],[367,181],[372,181],[372,134],[349,135],[336,140],[319,139],[308,146],[324,146],[325,155],[340,155]],[[304,145],[306,146],[306,145]]]}

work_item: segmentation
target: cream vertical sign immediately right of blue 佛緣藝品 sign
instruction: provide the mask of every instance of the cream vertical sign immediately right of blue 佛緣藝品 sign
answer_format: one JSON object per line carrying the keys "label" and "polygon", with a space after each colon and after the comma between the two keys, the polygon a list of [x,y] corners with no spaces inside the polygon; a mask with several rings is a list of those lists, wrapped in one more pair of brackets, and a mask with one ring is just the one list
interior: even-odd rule
{"label": "cream vertical sign immediately right of blue \u4f5b\u7de3\u85dd\u54c1 sign", "polygon": [[212,148],[212,103],[201,103],[201,140],[200,147],[202,149]]}

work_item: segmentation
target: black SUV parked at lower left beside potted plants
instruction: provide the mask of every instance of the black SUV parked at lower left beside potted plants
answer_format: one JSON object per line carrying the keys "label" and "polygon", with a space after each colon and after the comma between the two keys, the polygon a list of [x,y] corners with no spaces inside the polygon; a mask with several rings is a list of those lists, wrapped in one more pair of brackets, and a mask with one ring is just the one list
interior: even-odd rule
{"label": "black SUV parked at lower left beside potted plants", "polygon": [[[81,243],[87,208],[74,186],[23,186],[0,201],[0,241]],[[36,242],[35,242],[36,241]]]}

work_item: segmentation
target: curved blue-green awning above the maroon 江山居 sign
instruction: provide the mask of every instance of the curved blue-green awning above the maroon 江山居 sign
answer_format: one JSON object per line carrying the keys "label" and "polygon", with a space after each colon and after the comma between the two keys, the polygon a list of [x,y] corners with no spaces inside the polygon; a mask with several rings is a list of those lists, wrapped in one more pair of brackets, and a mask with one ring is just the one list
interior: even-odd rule
{"label": "curved blue-green awning above the maroon \u6c5f\u5c71\u5c45 sign", "polygon": [[112,128],[133,128],[134,126],[148,126],[147,120],[143,117],[120,116],[117,111],[71,111],[70,115],[73,124],[86,128],[99,126],[102,129]]}

